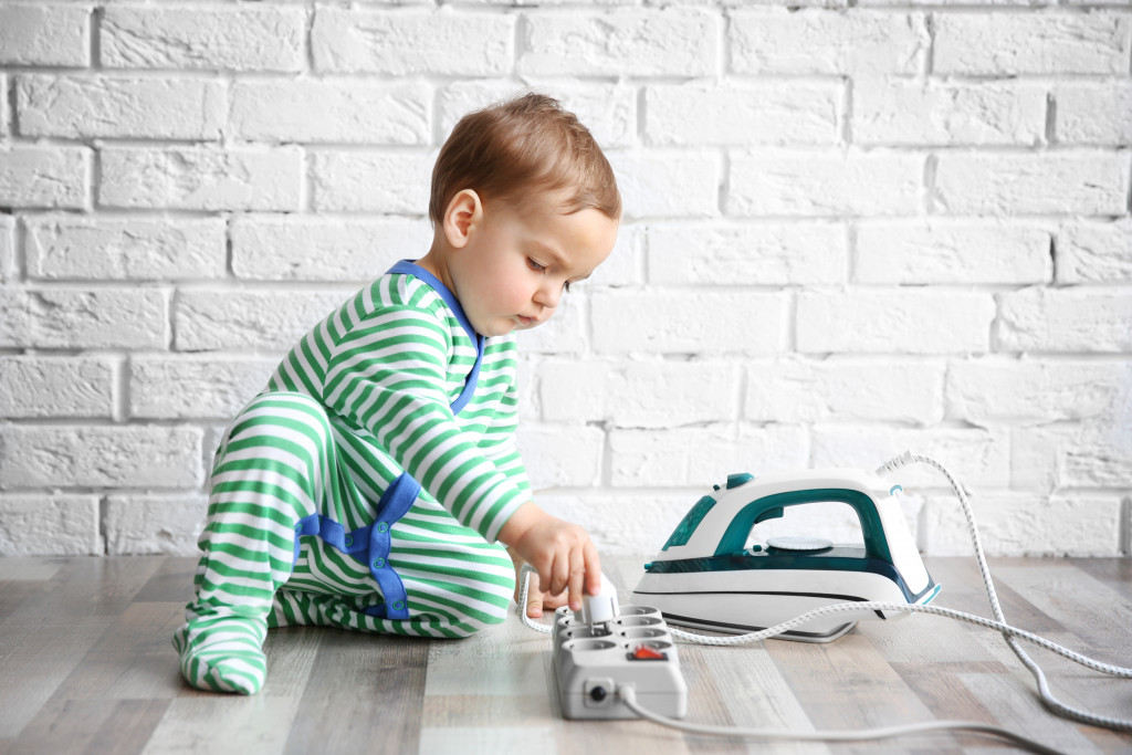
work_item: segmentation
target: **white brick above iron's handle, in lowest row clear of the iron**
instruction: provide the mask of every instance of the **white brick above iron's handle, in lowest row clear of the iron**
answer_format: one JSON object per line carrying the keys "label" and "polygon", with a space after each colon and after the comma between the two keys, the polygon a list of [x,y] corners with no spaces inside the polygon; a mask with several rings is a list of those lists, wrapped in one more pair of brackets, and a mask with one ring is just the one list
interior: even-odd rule
{"label": "white brick above iron's handle, in lowest row clear of the iron", "polygon": [[943,419],[944,363],[758,360],[746,369],[744,417],[756,422],[934,424]]}

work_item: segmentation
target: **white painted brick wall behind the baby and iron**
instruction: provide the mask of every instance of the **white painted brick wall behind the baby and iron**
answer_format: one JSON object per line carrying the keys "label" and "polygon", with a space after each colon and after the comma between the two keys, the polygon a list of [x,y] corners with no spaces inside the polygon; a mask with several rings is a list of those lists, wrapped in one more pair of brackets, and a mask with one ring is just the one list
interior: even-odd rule
{"label": "white painted brick wall behind the baby and iron", "polygon": [[730,472],[911,447],[992,552],[1129,554],[1130,72],[1124,0],[0,0],[0,554],[192,552],[228,419],[525,88],[626,212],[521,337],[544,506],[648,552]]}

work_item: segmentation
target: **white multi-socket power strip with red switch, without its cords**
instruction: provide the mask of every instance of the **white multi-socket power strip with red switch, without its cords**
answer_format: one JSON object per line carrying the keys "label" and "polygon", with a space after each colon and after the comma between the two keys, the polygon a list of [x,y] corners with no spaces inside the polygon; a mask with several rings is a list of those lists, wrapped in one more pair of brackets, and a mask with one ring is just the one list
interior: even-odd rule
{"label": "white multi-socket power strip with red switch, without its cords", "polygon": [[677,719],[687,713],[688,686],[659,610],[621,606],[612,619],[591,626],[559,609],[552,636],[558,700],[566,718],[637,718],[617,696],[623,684],[634,686],[643,707]]}

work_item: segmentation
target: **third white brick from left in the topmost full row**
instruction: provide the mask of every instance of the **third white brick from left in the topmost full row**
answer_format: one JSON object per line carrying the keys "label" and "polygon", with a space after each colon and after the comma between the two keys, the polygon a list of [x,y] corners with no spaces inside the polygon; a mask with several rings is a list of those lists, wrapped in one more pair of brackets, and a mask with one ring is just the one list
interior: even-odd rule
{"label": "third white brick from left in the topmost full row", "polygon": [[319,7],[310,44],[321,72],[506,76],[514,38],[511,15]]}

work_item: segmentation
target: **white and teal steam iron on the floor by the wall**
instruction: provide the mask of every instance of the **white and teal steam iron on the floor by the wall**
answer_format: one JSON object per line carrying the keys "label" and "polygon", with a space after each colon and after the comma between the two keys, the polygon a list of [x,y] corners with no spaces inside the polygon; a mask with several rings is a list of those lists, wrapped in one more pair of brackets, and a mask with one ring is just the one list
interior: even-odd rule
{"label": "white and teal steam iron on the floor by the wall", "polygon": [[[855,469],[766,475],[732,474],[688,511],[633,591],[633,601],[660,609],[669,624],[740,634],[806,611],[850,601],[928,603],[940,592],[901,511],[900,486]],[[848,504],[864,547],[813,537],[767,538],[747,547],[754,525],[789,506]],[[861,610],[811,619],[779,635],[803,642],[837,640],[864,618],[907,612]]]}

